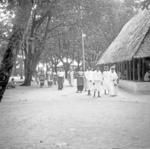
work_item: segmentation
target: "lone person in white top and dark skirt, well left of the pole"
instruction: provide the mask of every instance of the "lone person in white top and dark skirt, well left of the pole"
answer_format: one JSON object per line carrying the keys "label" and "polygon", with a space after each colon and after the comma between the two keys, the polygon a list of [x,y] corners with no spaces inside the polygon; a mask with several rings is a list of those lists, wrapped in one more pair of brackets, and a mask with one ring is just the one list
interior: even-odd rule
{"label": "lone person in white top and dark skirt, well left of the pole", "polygon": [[64,80],[65,80],[65,72],[62,69],[59,69],[58,73],[58,90],[62,90],[63,89],[63,84],[64,84]]}

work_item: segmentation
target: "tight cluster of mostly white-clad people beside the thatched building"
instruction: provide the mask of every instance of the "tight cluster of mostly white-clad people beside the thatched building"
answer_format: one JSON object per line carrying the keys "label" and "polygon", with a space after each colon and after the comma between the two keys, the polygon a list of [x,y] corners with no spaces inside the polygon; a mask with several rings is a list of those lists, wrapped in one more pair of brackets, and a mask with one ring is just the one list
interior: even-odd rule
{"label": "tight cluster of mostly white-clad people beside the thatched building", "polygon": [[77,92],[85,90],[89,96],[93,95],[93,97],[101,97],[103,94],[116,96],[118,80],[115,65],[110,69],[105,66],[103,72],[99,68],[80,71],[77,76]]}

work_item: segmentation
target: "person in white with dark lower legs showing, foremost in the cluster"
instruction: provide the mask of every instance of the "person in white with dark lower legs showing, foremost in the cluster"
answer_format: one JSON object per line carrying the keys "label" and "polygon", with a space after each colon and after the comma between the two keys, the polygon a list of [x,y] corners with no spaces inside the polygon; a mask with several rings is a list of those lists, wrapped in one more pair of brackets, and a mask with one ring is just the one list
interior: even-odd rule
{"label": "person in white with dark lower legs showing, foremost in the cluster", "polygon": [[97,68],[94,72],[93,72],[93,89],[94,89],[94,97],[97,96],[101,97],[102,95],[102,73],[99,70],[99,68]]}

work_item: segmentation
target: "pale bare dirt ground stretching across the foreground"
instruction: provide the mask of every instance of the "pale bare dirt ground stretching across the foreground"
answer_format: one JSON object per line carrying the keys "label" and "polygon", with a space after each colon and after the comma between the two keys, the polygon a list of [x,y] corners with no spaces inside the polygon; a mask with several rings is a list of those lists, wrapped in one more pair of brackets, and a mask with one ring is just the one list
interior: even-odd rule
{"label": "pale bare dirt ground stretching across the foreground", "polygon": [[150,149],[149,95],[18,87],[0,104],[0,149]]}

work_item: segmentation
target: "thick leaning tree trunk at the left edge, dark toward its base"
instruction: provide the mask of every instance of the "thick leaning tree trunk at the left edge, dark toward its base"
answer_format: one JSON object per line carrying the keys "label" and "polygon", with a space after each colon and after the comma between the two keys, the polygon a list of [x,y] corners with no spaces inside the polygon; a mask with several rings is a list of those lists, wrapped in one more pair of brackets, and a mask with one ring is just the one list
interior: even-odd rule
{"label": "thick leaning tree trunk at the left edge, dark toward its base", "polygon": [[20,41],[23,38],[24,29],[27,27],[31,7],[31,1],[26,0],[22,1],[18,9],[16,9],[13,33],[9,38],[9,43],[0,65],[0,102],[7,87],[14,61],[16,60],[17,51],[20,48]]}

